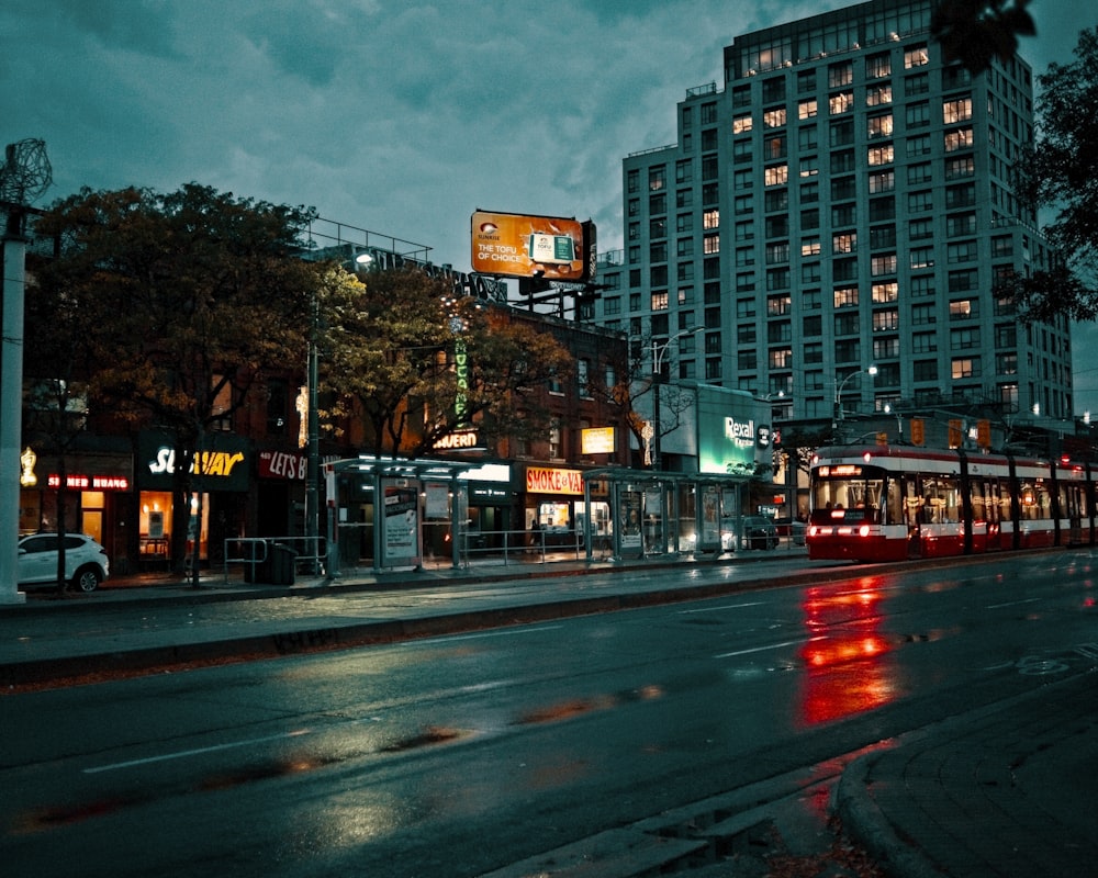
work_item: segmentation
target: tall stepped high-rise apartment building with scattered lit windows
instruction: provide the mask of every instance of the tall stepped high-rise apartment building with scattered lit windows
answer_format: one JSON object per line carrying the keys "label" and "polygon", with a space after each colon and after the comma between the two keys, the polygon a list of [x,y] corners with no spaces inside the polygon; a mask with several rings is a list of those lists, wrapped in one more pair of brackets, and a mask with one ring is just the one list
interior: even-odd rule
{"label": "tall stepped high-rise apartment building with scattered lit windows", "polygon": [[996,293],[1053,258],[1010,189],[1031,69],[945,64],[930,14],[873,0],[736,37],[724,88],[677,105],[679,143],[623,161],[624,252],[596,318],[671,340],[666,379],[751,391],[777,419],[1071,418],[1067,322],[1020,323]]}

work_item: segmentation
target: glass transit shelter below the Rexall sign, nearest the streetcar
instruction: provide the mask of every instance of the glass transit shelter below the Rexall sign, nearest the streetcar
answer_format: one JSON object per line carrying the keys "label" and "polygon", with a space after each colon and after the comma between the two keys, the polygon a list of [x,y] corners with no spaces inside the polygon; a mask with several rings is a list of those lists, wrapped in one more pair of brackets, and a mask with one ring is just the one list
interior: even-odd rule
{"label": "glass transit shelter below the Rexall sign, nearest the streetcar", "polygon": [[[736,545],[747,474],[607,468],[584,472],[586,558],[610,560],[681,553],[720,554]],[[593,497],[605,498],[605,515]]]}

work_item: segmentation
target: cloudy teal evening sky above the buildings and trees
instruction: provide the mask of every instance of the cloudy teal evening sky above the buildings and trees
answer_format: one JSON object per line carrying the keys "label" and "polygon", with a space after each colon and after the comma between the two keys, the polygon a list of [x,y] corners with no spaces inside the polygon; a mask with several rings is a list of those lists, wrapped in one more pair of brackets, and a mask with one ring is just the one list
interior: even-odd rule
{"label": "cloudy teal evening sky above the buildings and trees", "polygon": [[[848,4],[4,2],[0,137],[46,142],[54,184],[38,206],[85,185],[194,181],[314,206],[459,270],[478,207],[592,218],[614,249],[621,158],[674,143],[686,90],[722,87],[724,46]],[[1034,70],[1072,60],[1078,30],[1098,24],[1069,14],[1086,7],[1033,0]],[[1077,362],[1076,379],[1098,412],[1098,364]]]}

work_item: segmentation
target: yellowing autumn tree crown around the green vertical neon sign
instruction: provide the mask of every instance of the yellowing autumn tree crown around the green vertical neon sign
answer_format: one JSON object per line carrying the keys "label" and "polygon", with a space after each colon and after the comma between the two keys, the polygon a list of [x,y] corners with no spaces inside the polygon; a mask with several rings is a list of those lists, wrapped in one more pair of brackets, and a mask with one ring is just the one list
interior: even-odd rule
{"label": "yellowing autumn tree crown around the green vertical neon sign", "polygon": [[327,419],[361,424],[379,457],[418,457],[474,423],[482,443],[544,435],[533,392],[572,374],[551,335],[414,268],[361,277],[324,290]]}

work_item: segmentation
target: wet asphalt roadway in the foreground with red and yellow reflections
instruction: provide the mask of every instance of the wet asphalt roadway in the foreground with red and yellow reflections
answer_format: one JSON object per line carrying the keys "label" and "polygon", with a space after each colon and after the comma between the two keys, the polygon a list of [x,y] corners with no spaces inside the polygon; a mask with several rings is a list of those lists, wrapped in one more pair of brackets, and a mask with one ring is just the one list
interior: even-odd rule
{"label": "wet asphalt roadway in the foreground with red and yellow reflections", "polygon": [[850,573],[5,696],[4,862],[478,876],[1094,666],[1086,552]]}

